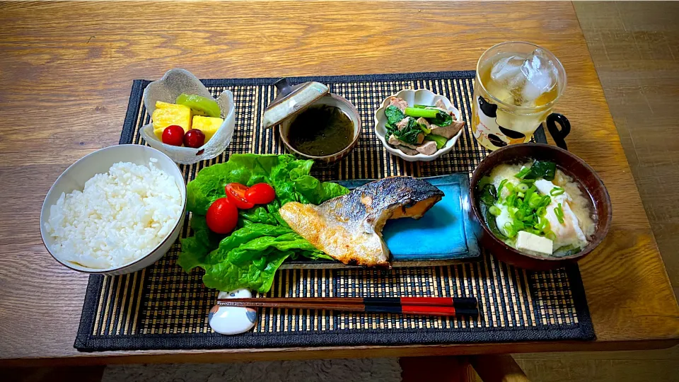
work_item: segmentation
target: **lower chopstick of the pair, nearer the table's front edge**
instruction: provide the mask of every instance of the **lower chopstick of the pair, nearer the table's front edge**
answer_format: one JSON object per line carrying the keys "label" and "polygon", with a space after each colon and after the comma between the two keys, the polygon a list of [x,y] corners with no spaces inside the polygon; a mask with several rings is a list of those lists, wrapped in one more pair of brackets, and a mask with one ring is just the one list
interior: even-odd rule
{"label": "lower chopstick of the pair, nearer the table's front edge", "polygon": [[[325,301],[333,299],[332,303]],[[273,301],[275,300],[275,301]],[[366,313],[417,314],[422,316],[478,316],[476,307],[455,307],[436,305],[365,305],[363,303],[344,301],[342,298],[304,298],[302,299],[218,299],[219,306],[248,306],[251,308],[299,308],[326,311],[354,311]],[[344,303],[340,303],[340,300]],[[358,299],[363,300],[363,299]],[[354,300],[356,301],[356,300]]]}

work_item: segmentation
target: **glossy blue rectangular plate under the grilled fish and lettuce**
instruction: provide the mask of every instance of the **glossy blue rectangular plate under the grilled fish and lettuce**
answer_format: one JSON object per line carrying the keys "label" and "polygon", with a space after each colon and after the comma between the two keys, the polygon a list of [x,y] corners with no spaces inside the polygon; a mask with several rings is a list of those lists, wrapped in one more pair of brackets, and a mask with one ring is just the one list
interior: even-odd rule
{"label": "glossy blue rectangular plate under the grilled fish and lettuce", "polygon": [[[382,236],[391,251],[393,267],[445,265],[480,256],[479,246],[468,218],[469,177],[454,173],[424,178],[443,191],[443,199],[434,204],[421,219],[388,220]],[[354,189],[370,179],[340,180],[337,183]],[[336,268],[340,262],[296,260],[284,268]]]}

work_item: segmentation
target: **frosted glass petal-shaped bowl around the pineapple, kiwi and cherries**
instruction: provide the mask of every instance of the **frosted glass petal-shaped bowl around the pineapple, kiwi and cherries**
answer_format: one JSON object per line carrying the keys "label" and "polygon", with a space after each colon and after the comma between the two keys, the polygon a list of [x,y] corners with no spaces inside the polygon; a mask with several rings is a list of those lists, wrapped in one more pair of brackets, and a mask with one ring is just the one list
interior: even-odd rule
{"label": "frosted glass petal-shaped bowl around the pineapple, kiwi and cherries", "polygon": [[[153,115],[153,110],[156,110],[156,101],[175,103],[181,93],[212,98],[203,83],[189,71],[170,69],[162,79],[149,83],[149,86],[144,89],[146,112]],[[144,137],[146,143],[153,149],[163,151],[173,161],[181,164],[197,163],[219,156],[226,150],[233,137],[233,129],[236,126],[236,104],[233,102],[233,93],[228,90],[223,91],[216,101],[219,104],[220,116],[224,118],[224,123],[206,144],[197,149],[164,144],[156,137],[156,134],[153,134],[153,123],[141,127],[141,137]]]}

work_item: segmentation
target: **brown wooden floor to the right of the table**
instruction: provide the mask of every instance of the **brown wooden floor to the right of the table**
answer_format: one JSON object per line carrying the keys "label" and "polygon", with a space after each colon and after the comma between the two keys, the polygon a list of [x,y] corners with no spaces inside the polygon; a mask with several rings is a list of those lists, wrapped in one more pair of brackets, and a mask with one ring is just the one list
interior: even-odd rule
{"label": "brown wooden floor to the right of the table", "polygon": [[[670,282],[679,292],[679,2],[576,7]],[[605,25],[605,28],[603,28]]]}

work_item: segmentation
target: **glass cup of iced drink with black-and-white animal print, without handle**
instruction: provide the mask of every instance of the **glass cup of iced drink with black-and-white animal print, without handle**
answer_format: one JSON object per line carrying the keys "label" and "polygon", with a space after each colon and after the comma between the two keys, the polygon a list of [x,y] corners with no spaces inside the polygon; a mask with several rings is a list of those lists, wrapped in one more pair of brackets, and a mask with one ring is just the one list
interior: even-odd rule
{"label": "glass cup of iced drink with black-and-white animal print, without handle", "polygon": [[566,87],[552,52],[530,42],[502,42],[476,67],[472,132],[486,149],[530,141]]}

